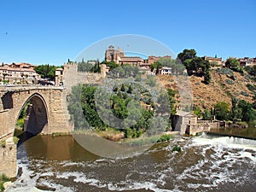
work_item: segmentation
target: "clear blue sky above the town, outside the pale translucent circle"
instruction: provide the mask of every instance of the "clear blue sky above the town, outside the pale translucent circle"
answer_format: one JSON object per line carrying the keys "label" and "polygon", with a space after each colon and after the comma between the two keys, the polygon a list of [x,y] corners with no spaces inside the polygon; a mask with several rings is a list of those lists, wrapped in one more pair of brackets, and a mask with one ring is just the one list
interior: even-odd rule
{"label": "clear blue sky above the town, outside the pale translucent circle", "polygon": [[174,51],[256,57],[256,0],[1,0],[0,62],[62,65],[102,38],[138,34]]}

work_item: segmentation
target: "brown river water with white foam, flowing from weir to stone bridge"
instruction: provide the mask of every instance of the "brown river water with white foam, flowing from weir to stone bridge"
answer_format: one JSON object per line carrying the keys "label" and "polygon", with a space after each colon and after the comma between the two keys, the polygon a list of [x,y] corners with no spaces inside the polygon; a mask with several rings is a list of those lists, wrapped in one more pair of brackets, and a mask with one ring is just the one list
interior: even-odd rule
{"label": "brown river water with white foam, flowing from weir to stone bridge", "polygon": [[[172,152],[175,144],[181,153]],[[106,159],[72,136],[37,136],[19,146],[18,166],[8,191],[256,191],[256,141],[235,137],[177,137]]]}

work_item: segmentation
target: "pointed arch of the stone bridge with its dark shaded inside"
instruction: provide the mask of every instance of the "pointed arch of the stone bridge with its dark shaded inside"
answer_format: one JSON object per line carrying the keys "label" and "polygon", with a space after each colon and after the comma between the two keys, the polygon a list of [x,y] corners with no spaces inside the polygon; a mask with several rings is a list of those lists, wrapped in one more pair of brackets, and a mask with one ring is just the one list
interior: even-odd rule
{"label": "pointed arch of the stone bridge with its dark shaded inside", "polygon": [[26,98],[26,101],[22,103],[19,109],[18,115],[16,115],[15,123],[20,116],[20,113],[27,102],[30,102],[27,108],[27,116],[24,119],[24,131],[32,133],[32,135],[38,135],[38,133],[48,132],[48,122],[49,122],[49,111],[47,104],[44,100],[44,96],[39,93],[33,93],[31,96]]}

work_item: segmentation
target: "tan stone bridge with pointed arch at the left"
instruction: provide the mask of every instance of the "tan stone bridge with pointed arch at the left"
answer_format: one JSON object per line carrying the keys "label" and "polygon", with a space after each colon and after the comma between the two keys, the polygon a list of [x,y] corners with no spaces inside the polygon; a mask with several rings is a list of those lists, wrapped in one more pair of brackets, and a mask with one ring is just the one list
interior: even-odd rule
{"label": "tan stone bridge with pointed arch at the left", "polygon": [[17,119],[26,103],[30,115],[25,131],[38,133],[73,131],[67,112],[67,94],[63,87],[42,85],[0,85],[0,174],[17,174],[17,147],[14,132]]}

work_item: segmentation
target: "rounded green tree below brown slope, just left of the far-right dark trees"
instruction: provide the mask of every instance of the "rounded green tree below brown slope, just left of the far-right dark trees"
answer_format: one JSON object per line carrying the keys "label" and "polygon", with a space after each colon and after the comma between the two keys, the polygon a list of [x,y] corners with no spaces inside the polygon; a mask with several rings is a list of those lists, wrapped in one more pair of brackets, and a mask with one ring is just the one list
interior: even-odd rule
{"label": "rounded green tree below brown slope, just left of the far-right dark trees", "polygon": [[218,102],[215,106],[216,119],[229,120],[230,119],[230,104],[227,102]]}

